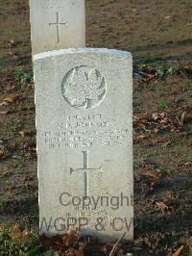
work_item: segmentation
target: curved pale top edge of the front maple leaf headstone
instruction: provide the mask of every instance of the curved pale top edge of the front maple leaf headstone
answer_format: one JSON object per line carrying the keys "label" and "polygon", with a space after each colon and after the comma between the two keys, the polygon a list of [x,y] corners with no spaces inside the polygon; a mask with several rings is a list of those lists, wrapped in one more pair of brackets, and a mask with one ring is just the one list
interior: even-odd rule
{"label": "curved pale top edge of the front maple leaf headstone", "polygon": [[54,51],[48,51],[44,53],[39,53],[34,55],[34,61],[56,57],[65,54],[108,54],[108,55],[116,55],[124,58],[132,58],[132,54],[127,51],[115,50],[115,49],[107,49],[107,48],[69,48],[69,49],[60,49]]}

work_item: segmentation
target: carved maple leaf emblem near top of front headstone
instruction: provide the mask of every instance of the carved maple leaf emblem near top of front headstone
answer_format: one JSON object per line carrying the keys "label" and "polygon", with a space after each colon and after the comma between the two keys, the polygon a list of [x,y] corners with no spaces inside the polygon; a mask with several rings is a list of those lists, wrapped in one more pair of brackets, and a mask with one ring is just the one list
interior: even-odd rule
{"label": "carved maple leaf emblem near top of front headstone", "polygon": [[63,95],[74,107],[90,109],[98,105],[106,94],[106,81],[98,70],[74,68],[64,85]]}

